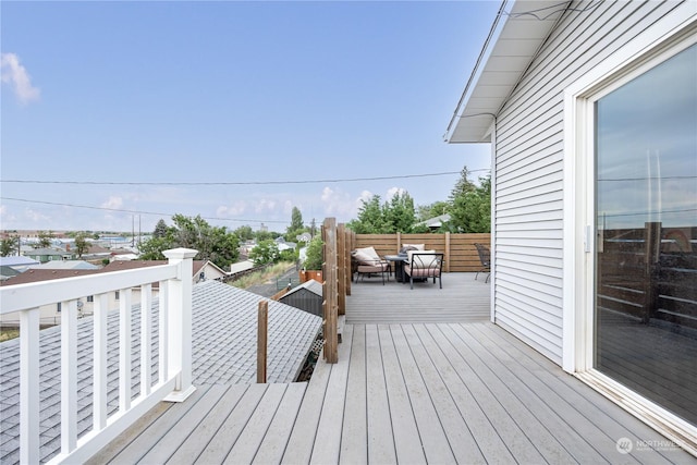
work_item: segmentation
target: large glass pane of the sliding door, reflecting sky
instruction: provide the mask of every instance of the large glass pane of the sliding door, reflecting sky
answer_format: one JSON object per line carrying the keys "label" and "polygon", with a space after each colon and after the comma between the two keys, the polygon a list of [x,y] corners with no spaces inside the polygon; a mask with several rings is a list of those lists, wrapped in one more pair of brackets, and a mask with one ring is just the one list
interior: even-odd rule
{"label": "large glass pane of the sliding door, reflecting sky", "polygon": [[594,99],[592,367],[697,425],[697,45]]}

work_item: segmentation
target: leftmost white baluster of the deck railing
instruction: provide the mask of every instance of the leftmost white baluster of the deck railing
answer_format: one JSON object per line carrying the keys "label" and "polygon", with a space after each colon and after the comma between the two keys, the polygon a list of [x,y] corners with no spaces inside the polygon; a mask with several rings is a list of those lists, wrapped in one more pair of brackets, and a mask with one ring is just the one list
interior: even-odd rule
{"label": "leftmost white baluster of the deck railing", "polygon": [[39,309],[20,315],[20,463],[39,462]]}

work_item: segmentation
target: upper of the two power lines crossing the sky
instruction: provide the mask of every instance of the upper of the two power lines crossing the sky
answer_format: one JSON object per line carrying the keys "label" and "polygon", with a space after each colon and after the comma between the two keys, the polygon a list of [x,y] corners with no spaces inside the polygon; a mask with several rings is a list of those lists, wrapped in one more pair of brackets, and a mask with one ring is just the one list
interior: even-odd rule
{"label": "upper of the two power lines crossing the sky", "polygon": [[[489,168],[468,170],[469,173],[490,171]],[[394,176],[345,178],[326,180],[295,180],[295,181],[227,181],[227,182],[117,182],[117,181],[49,181],[49,180],[0,180],[0,183],[13,184],[73,184],[73,185],[167,185],[167,186],[216,186],[216,185],[279,185],[279,184],[319,184],[319,183],[351,183],[362,181],[386,181],[413,178],[435,178],[461,174],[460,171],[444,171],[441,173],[403,174]]]}

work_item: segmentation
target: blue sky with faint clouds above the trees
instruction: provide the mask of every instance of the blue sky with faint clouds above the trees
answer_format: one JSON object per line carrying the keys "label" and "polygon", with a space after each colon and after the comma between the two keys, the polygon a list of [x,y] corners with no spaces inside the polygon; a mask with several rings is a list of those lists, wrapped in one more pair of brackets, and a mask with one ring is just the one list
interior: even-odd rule
{"label": "blue sky with faint clouds above the trees", "polygon": [[293,207],[445,200],[457,174],[415,175],[490,168],[442,136],[499,5],[2,1],[0,228],[284,231]]}

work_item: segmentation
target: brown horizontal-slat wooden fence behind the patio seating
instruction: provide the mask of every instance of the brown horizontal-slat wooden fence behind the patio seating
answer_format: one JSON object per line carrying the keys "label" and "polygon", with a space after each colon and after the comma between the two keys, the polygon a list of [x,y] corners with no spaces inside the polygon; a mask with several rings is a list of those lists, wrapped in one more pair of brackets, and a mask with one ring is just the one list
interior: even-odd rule
{"label": "brown horizontal-slat wooden fence behind the patio seating", "polygon": [[424,244],[426,249],[444,254],[443,271],[476,272],[481,269],[475,243],[490,247],[491,234],[354,234],[351,249],[375,247],[380,256],[394,255],[404,244]]}

